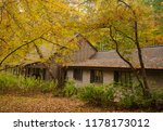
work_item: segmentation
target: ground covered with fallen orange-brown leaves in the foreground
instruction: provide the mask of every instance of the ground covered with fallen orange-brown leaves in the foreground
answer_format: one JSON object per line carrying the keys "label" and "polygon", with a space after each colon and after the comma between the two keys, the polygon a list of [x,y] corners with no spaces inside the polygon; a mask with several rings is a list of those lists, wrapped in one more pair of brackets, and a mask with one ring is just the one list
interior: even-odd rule
{"label": "ground covered with fallen orange-brown leaves in the foreground", "polygon": [[[52,94],[18,96],[0,95],[0,113],[116,113],[145,112],[122,110],[88,105],[77,99],[53,97]],[[146,110],[150,112],[150,110]]]}

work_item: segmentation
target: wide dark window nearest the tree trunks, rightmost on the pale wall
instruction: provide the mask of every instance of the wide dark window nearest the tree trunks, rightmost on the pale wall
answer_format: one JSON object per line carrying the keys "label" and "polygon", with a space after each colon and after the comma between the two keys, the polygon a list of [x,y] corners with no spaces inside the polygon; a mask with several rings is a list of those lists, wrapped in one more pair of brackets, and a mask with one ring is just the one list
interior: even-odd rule
{"label": "wide dark window nearest the tree trunks, rightmost on the pale wall", "polygon": [[131,86],[131,71],[114,71],[114,81],[122,86]]}

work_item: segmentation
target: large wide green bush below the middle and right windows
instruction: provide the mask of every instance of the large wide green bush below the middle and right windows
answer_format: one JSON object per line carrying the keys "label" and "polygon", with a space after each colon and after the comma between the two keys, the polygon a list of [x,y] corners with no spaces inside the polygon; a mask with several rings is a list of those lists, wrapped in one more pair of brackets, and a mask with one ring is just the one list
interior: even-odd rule
{"label": "large wide green bush below the middle and right windows", "polygon": [[120,84],[87,86],[79,91],[79,97],[98,106],[114,106],[134,109],[151,107],[153,99],[145,99],[140,87],[122,87]]}

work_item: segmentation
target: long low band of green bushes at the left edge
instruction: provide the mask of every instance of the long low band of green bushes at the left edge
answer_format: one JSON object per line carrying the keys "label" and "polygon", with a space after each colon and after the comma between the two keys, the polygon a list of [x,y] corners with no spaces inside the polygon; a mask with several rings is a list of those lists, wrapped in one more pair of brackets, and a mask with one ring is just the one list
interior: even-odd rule
{"label": "long low band of green bushes at the left edge", "polygon": [[0,74],[0,93],[48,93],[52,92],[57,87],[55,81],[45,81],[23,76],[14,76],[11,74]]}

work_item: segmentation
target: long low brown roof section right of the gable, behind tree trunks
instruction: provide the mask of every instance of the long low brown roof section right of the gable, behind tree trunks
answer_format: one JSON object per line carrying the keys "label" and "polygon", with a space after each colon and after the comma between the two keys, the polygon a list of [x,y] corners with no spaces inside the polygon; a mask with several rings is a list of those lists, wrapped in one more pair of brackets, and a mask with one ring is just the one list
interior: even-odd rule
{"label": "long low brown roof section right of the gable, behind tree trunks", "polygon": [[[142,48],[145,67],[149,69],[163,69],[163,47]],[[131,63],[139,68],[137,51],[130,54]],[[115,50],[97,52],[95,56],[79,63],[71,63],[68,67],[110,67],[129,68],[129,66],[117,55]]]}

